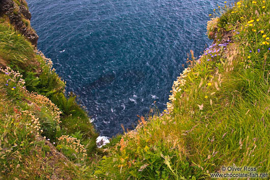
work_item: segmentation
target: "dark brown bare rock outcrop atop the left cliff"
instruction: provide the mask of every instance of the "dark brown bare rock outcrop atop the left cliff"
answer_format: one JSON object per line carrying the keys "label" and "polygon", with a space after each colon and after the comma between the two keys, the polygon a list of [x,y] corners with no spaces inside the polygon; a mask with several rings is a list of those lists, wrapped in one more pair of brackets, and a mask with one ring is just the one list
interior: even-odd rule
{"label": "dark brown bare rock outcrop atop the left cliff", "polygon": [[31,13],[25,7],[27,4],[20,1],[20,4],[14,3],[12,0],[0,1],[0,16],[7,16],[10,22],[14,25],[24,37],[35,46],[37,46],[38,35],[30,26]]}

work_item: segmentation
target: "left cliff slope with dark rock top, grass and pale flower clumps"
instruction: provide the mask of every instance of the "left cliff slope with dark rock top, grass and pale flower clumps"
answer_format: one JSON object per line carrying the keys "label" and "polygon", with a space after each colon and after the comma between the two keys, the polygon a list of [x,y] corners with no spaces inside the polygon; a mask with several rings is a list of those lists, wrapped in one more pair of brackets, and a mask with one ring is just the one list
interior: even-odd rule
{"label": "left cliff slope with dark rock top, grass and pale flower clumps", "polygon": [[35,49],[26,2],[0,4],[0,179],[79,179],[98,135]]}

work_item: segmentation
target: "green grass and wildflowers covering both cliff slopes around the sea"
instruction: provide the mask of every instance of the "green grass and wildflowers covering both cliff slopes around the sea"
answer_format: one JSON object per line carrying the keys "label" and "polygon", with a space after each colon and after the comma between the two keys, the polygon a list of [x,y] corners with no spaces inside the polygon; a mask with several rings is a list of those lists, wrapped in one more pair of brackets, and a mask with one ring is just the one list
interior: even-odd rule
{"label": "green grass and wildflowers covering both cliff slopes around the sea", "polygon": [[191,51],[167,109],[100,150],[51,61],[0,18],[0,65],[15,70],[0,73],[0,179],[194,180],[223,166],[269,174],[269,7],[246,0],[214,10],[213,44],[198,60]]}

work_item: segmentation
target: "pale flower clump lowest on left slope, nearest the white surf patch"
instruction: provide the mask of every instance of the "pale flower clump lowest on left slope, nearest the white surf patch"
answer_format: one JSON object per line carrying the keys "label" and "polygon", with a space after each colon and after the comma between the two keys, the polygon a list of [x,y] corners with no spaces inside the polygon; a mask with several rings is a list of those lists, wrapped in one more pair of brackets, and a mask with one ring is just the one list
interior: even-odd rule
{"label": "pale flower clump lowest on left slope, nearest the white surf patch", "polygon": [[62,135],[58,140],[57,148],[70,159],[83,161],[87,156],[85,146],[80,143],[79,139],[68,135]]}

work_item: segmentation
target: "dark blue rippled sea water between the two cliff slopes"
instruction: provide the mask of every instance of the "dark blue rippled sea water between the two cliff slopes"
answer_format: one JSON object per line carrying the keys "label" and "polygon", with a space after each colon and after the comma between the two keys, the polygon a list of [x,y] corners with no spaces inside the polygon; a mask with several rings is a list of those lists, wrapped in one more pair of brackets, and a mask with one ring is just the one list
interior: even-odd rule
{"label": "dark blue rippled sea water between the two cliff slopes", "polygon": [[160,111],[187,53],[211,43],[208,14],[216,0],[28,0],[38,48],[51,58],[94,118],[112,137],[132,129],[153,101]]}

